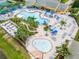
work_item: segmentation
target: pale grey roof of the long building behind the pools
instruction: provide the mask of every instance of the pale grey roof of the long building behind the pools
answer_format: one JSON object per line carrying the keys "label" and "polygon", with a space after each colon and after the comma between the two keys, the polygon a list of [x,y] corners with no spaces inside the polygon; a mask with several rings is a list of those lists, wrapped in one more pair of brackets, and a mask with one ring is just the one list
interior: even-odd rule
{"label": "pale grey roof of the long building behind the pools", "polygon": [[36,6],[49,7],[51,9],[58,7],[57,10],[60,11],[64,11],[68,7],[67,4],[60,3],[58,0],[27,0],[27,2],[30,2],[31,4],[35,3]]}

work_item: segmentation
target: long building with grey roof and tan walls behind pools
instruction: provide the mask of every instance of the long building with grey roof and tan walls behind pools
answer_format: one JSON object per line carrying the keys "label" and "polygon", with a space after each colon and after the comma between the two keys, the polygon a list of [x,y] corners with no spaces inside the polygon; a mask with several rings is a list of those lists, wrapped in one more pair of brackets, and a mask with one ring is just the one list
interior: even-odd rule
{"label": "long building with grey roof and tan walls behind pools", "polygon": [[35,5],[47,9],[55,10],[59,13],[65,13],[68,9],[67,4],[60,3],[58,0],[27,0],[28,6]]}

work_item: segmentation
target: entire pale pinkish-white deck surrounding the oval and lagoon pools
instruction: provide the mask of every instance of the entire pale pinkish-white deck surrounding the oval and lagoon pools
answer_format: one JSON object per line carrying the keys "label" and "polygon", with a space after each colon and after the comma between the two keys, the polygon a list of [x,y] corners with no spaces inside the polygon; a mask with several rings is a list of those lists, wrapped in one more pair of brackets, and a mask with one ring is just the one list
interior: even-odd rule
{"label": "entire pale pinkish-white deck surrounding the oval and lagoon pools", "polygon": [[[29,54],[32,55],[33,59],[39,58],[39,59],[50,59],[54,58],[56,55],[56,47],[61,46],[65,40],[69,40],[70,44],[72,43],[73,39],[75,38],[75,35],[78,30],[78,26],[76,24],[76,21],[74,18],[68,16],[68,15],[61,15],[54,13],[52,14],[53,17],[47,17],[45,15],[45,11],[41,10],[34,10],[34,9],[21,9],[21,10],[16,10],[13,12],[11,17],[14,17],[14,15],[18,15],[22,11],[27,11],[27,12],[38,12],[40,13],[40,17],[48,19],[48,25],[51,25],[52,27],[56,27],[58,29],[58,32],[56,35],[52,35],[51,31],[44,31],[44,25],[38,26],[36,31],[38,32],[37,34],[29,37],[26,41],[26,49],[28,50]],[[7,15],[7,14],[6,14]],[[5,18],[6,15],[1,15]],[[59,17],[59,19],[57,19]],[[6,16],[5,19],[9,19],[10,17]],[[60,25],[60,21],[64,20],[66,22],[65,26]],[[28,27],[28,25],[27,25]],[[6,28],[6,26],[4,26]],[[62,28],[62,29],[61,29]],[[7,31],[7,30],[6,30]],[[46,36],[48,34],[48,36]],[[47,39],[51,42],[52,49],[49,52],[42,53],[38,51],[32,44],[33,40],[36,38],[44,38]]]}

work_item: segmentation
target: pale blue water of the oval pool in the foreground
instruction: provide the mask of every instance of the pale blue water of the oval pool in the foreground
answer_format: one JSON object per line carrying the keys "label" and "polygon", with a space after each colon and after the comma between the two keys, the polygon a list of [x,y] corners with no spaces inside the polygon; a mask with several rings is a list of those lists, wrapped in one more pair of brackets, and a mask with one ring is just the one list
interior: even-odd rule
{"label": "pale blue water of the oval pool in the foreground", "polygon": [[33,45],[35,48],[43,53],[48,52],[52,48],[50,41],[44,39],[35,39],[33,41]]}

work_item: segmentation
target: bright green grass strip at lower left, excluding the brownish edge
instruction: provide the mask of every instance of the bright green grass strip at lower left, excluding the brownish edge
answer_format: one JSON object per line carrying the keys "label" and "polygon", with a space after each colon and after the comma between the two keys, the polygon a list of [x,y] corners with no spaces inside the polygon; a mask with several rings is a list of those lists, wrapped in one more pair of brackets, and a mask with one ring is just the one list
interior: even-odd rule
{"label": "bright green grass strip at lower left, excluding the brownish edge", "polygon": [[8,44],[4,38],[0,38],[0,47],[8,59],[24,59],[23,55],[16,51],[16,49],[14,49],[10,44]]}

